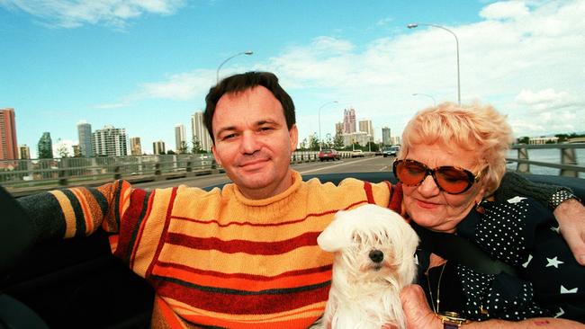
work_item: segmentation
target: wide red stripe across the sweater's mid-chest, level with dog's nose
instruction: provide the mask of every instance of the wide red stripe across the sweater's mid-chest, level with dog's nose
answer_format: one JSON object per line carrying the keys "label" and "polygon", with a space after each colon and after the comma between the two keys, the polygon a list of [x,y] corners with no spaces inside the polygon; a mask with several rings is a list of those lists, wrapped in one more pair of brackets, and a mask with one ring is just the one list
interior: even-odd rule
{"label": "wide red stripe across the sweater's mid-chest, level with dog's nose", "polygon": [[248,253],[248,254],[281,254],[294,249],[317,245],[317,236],[320,232],[307,232],[301,236],[276,242],[252,242],[247,240],[223,241],[217,237],[194,237],[179,233],[169,233],[166,242],[171,245],[183,245],[198,250],[218,250],[222,253]]}

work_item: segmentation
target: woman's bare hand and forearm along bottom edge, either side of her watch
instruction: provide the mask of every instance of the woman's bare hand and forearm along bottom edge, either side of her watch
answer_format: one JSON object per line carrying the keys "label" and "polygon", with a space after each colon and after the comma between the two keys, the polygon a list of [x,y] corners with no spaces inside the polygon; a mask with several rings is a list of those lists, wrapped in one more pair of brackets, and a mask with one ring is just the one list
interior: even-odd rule
{"label": "woman's bare hand and forearm along bottom edge, either side of her watch", "polygon": [[[441,320],[430,310],[425,293],[419,285],[413,284],[402,289],[402,308],[409,329],[443,329]],[[542,329],[542,328],[585,328],[578,322],[553,317],[536,317],[518,322],[488,320],[464,324],[461,328],[508,328],[508,329]]]}

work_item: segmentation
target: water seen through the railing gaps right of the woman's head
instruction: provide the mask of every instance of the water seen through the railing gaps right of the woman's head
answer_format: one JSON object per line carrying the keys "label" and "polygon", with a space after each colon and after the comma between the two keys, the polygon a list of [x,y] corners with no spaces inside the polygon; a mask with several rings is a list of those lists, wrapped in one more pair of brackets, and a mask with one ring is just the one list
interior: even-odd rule
{"label": "water seen through the railing gaps right of the woman's head", "polygon": [[[575,149],[575,153],[577,156],[577,164],[578,165],[585,164],[585,148],[577,148]],[[516,149],[509,150],[508,157],[518,158],[518,150]],[[528,149],[528,157],[529,160],[532,161],[542,161],[553,164],[561,163],[561,151],[555,148]],[[513,162],[510,164],[506,164],[506,167],[510,170],[516,170],[517,165],[518,163]],[[549,168],[535,164],[530,164],[530,173],[558,175],[560,171],[561,169],[557,168]],[[579,173],[579,177],[585,178],[585,173]]]}

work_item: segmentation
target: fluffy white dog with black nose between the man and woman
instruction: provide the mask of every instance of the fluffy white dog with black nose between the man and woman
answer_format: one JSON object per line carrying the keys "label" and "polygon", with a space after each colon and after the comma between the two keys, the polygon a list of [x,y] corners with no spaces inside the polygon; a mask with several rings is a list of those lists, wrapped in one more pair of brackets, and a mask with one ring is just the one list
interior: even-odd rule
{"label": "fluffy white dog with black nose between the man and woman", "polygon": [[419,236],[404,218],[372,204],[339,211],[317,243],[335,253],[323,328],[406,328],[400,292],[414,280]]}

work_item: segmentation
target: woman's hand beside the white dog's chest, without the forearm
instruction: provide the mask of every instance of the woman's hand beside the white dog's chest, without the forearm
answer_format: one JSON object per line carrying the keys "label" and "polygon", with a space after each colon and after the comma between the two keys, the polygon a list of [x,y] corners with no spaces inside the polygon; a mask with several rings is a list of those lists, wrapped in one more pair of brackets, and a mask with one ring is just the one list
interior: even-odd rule
{"label": "woman's hand beside the white dog's chest, without the forearm", "polygon": [[440,329],[441,320],[430,310],[425,292],[419,285],[412,284],[401,291],[402,308],[409,329]]}

